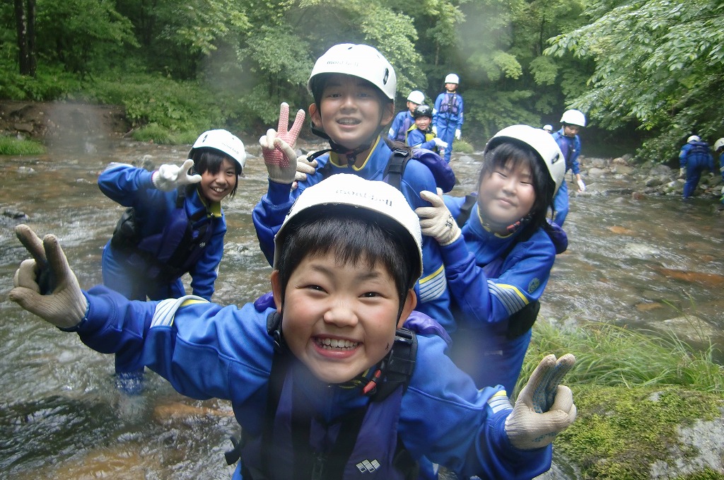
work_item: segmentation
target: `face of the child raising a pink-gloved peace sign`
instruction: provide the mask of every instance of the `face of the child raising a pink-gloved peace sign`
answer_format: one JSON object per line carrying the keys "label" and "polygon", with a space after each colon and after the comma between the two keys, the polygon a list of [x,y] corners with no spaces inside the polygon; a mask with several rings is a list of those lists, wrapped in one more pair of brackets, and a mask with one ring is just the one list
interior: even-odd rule
{"label": "face of the child raising a pink-gloved peace sign", "polygon": [[379,98],[374,85],[358,77],[334,74],[321,95],[319,109],[309,106],[315,125],[321,125],[334,143],[353,150],[387,125],[395,114],[392,102]]}

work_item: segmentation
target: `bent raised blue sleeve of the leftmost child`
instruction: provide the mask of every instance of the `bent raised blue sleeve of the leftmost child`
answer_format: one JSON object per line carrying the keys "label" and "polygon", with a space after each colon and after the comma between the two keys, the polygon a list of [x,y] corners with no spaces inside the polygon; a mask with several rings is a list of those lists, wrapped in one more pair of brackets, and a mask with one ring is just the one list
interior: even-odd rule
{"label": "bent raised blue sleeve of the leftmost child", "polygon": [[153,188],[151,175],[146,169],[133,167],[129,164],[110,164],[98,176],[98,188],[111,200],[122,206],[134,206],[139,195],[146,195],[149,190],[159,196],[163,193]]}

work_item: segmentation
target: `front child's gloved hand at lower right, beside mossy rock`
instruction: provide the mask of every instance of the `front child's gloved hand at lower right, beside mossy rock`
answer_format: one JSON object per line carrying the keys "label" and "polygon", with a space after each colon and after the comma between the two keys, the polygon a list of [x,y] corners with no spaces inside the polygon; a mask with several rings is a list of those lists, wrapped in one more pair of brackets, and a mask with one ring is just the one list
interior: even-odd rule
{"label": "front child's gloved hand at lower right, beside mossy rock", "polygon": [[513,447],[545,447],[576,420],[571,389],[560,385],[573,363],[576,357],[570,353],[557,360],[555,355],[547,355],[533,371],[515,400],[513,413],[505,419],[505,432]]}

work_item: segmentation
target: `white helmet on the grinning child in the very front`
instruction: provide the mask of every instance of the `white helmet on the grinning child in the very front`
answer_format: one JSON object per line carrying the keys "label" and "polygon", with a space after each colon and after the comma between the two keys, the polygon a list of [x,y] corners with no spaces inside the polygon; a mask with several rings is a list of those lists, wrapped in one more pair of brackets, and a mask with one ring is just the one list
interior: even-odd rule
{"label": "white helmet on the grinning child in the very front", "polygon": [[399,224],[401,235],[407,234],[408,243],[415,245],[419,264],[415,267],[416,279],[422,274],[422,233],[420,219],[411,209],[405,196],[386,182],[365,180],[354,174],[340,173],[306,188],[297,198],[274,237],[274,268],[277,268],[280,242],[285,227],[301,211],[318,209],[320,214],[330,205],[345,205],[350,215],[359,216],[366,211],[375,216],[387,216]]}

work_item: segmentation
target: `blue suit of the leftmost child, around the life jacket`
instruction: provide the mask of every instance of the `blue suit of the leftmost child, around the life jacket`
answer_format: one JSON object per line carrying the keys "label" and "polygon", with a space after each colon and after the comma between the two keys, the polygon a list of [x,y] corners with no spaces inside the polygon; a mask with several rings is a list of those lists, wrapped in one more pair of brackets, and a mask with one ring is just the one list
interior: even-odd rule
{"label": "blue suit of the leftmost child, around the life jacket", "polygon": [[[176,208],[177,190],[162,192],[153,186],[151,175],[146,169],[128,164],[111,164],[98,177],[98,186],[111,200],[122,206],[135,209],[136,223],[142,238],[159,235]],[[224,251],[226,219],[219,202],[206,205],[198,195],[198,190],[186,196],[183,204],[190,218],[198,218],[195,229],[208,224],[211,235],[203,253],[188,272],[191,275],[191,287],[194,295],[211,300],[214,293],[217,268]],[[143,258],[106,244],[103,250],[103,282],[109,288],[132,300],[161,300],[178,298],[185,295],[180,277],[172,279],[148,278],[146,271],[152,268]],[[135,363],[125,352],[116,355],[116,372],[119,374],[138,373],[143,364]],[[131,389],[132,390],[132,389]]]}

